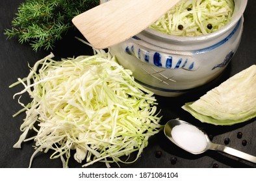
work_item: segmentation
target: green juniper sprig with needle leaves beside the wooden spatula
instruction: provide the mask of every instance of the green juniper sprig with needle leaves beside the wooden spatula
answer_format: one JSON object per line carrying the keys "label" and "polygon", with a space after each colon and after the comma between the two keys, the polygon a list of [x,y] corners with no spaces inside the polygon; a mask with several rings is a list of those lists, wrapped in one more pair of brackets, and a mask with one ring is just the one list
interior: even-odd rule
{"label": "green juniper sprig with needle leaves beside the wooden spatula", "polygon": [[97,5],[99,0],[26,0],[5,34],[31,44],[35,51],[53,49],[55,41],[74,28],[71,19]]}

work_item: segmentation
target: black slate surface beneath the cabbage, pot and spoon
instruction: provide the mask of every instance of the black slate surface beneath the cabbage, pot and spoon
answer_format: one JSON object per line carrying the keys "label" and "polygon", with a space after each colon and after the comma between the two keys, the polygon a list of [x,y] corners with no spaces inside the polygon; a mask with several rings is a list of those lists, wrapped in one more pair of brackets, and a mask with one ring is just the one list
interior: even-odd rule
{"label": "black slate surface beneath the cabbage, pot and spoon", "polygon": [[[38,59],[44,58],[49,52],[55,54],[55,59],[67,58],[79,55],[90,55],[92,50],[75,39],[75,36],[83,37],[79,32],[70,31],[68,34],[55,45],[52,51],[34,52],[27,45],[18,43],[18,39],[8,39],[3,34],[5,28],[10,28],[14,14],[17,12],[19,3],[23,0],[1,0],[0,1],[0,167],[28,167],[29,159],[34,152],[32,148],[33,142],[27,142],[22,145],[22,149],[14,149],[12,145],[16,143],[21,134],[19,126],[22,123],[25,114],[21,114],[16,118],[12,118],[12,114],[16,113],[21,107],[17,100],[13,100],[12,96],[21,91],[22,87],[14,87],[9,89],[8,86],[14,83],[17,78],[27,76],[29,69],[27,64],[33,65]],[[255,118],[246,123],[239,123],[232,126],[215,126],[201,123],[195,120],[190,114],[183,111],[181,106],[187,101],[197,100],[199,96],[205,94],[213,87],[218,86],[230,76],[244,70],[250,65],[256,63],[256,21],[255,21],[256,1],[249,0],[246,11],[244,12],[244,33],[240,47],[234,58],[229,63],[224,74],[220,79],[209,85],[209,87],[194,92],[193,96],[181,96],[179,98],[164,98],[157,96],[159,108],[162,109],[162,124],[173,118],[181,118],[188,122],[198,125],[208,134],[213,136],[212,142],[216,144],[224,144],[224,139],[229,138],[229,147],[233,147],[245,153],[256,156],[256,122]],[[256,92],[256,91],[255,91]],[[27,99],[28,98],[23,98]],[[241,139],[237,138],[237,133],[242,132]],[[242,145],[242,140],[247,140],[246,146]],[[156,151],[161,151],[160,158],[155,156]],[[50,160],[50,154],[40,153],[34,158],[32,167],[62,167],[59,159]],[[177,162],[173,164],[172,158],[176,157]],[[186,153],[169,142],[162,132],[149,139],[149,145],[144,149],[141,157],[137,162],[131,165],[123,165],[121,167],[256,167],[256,164],[229,156],[215,151],[194,155]],[[70,167],[81,167],[73,159],[70,160]],[[94,164],[92,167],[105,167],[104,164]],[[112,167],[118,167],[113,164]]]}

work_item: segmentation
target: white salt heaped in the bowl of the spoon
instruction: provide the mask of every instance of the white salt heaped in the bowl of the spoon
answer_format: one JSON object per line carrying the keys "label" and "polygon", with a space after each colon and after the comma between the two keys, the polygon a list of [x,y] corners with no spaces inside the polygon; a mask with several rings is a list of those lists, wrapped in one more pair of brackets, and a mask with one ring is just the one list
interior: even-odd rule
{"label": "white salt heaped in the bowl of the spoon", "polygon": [[173,127],[172,138],[176,144],[192,153],[200,153],[207,147],[207,139],[203,131],[190,124]]}

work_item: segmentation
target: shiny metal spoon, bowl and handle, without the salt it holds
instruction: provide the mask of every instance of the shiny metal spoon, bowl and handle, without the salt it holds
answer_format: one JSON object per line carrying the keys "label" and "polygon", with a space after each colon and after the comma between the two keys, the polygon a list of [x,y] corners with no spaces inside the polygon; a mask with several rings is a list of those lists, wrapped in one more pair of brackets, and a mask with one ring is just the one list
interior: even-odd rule
{"label": "shiny metal spoon, bowl and handle, without the salt it holds", "polygon": [[[175,140],[173,139],[173,135],[172,135],[172,129],[173,127],[175,127],[176,125],[181,125],[181,124],[189,124],[192,125],[188,122],[184,122],[183,120],[170,120],[169,122],[166,123],[166,125],[164,126],[164,134],[166,135],[166,137],[171,140],[175,145],[181,147],[181,145],[177,144],[177,142],[175,142]],[[194,125],[192,125],[194,126]],[[198,127],[194,126],[195,128],[199,129]],[[199,129],[201,130],[201,129]],[[202,131],[202,130],[201,130]],[[181,147],[182,149],[185,149],[185,151],[188,151],[192,154],[201,154],[204,153],[207,150],[215,150],[215,151],[220,151],[223,153],[227,153],[227,154],[231,154],[233,156],[237,156],[238,158],[242,158],[244,160],[247,160],[249,162],[253,162],[256,164],[256,156],[252,156],[251,154],[247,154],[244,153],[242,151],[238,151],[237,149],[233,149],[231,147],[227,147],[225,145],[220,145],[220,144],[213,144],[209,137],[207,136],[207,134],[202,131],[205,134],[205,140],[207,142],[207,146],[205,147],[205,149],[203,149],[203,151],[200,151],[198,153],[192,152],[192,151],[188,151],[188,149],[186,149],[186,147]]]}

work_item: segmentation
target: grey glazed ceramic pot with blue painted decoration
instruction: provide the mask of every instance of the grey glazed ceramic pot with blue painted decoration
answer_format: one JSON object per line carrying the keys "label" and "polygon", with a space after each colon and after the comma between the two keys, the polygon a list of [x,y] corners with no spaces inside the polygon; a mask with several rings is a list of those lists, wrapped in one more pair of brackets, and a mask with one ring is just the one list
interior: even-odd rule
{"label": "grey glazed ceramic pot with blue painted decoration", "polygon": [[235,0],[231,21],[211,34],[170,36],[147,28],[110,47],[110,53],[133,71],[138,83],[157,95],[178,96],[198,89],[220,76],[233,58],[242,36],[246,5],[247,0]]}

